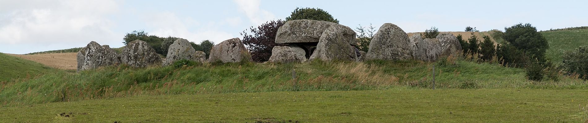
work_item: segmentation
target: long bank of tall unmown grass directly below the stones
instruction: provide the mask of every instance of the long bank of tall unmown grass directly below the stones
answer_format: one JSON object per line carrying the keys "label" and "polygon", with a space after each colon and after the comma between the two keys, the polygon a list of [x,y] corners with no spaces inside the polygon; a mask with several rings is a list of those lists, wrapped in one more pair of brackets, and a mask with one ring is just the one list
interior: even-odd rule
{"label": "long bank of tall unmown grass directly below the stones", "polygon": [[[532,82],[526,80],[522,69],[450,58],[440,62],[213,63],[183,68],[111,66],[79,73],[56,70],[35,79],[3,83],[0,103],[12,106],[160,94],[430,89],[432,66],[437,89],[586,87],[582,80],[573,78]],[[292,71],[296,79],[292,79]]]}

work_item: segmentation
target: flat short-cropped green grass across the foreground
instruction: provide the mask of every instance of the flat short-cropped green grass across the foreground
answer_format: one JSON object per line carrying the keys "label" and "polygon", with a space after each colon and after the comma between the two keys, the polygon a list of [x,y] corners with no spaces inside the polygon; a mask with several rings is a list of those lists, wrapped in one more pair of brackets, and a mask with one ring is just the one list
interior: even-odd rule
{"label": "flat short-cropped green grass across the foreground", "polygon": [[[0,121],[586,122],[587,93],[390,89],[138,96],[2,107]],[[69,117],[60,116],[62,113]]]}

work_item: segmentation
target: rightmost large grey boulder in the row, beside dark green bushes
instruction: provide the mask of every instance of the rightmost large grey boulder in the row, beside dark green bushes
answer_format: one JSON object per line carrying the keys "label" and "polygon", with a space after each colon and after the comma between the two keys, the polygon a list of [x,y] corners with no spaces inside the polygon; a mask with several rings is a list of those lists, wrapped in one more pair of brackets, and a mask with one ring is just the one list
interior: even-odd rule
{"label": "rightmost large grey boulder in the row, beside dark green bushes", "polygon": [[457,54],[462,52],[462,45],[459,44],[457,41],[457,37],[455,37],[451,33],[439,33],[437,37],[441,45],[441,54],[439,57],[447,57],[452,54]]}

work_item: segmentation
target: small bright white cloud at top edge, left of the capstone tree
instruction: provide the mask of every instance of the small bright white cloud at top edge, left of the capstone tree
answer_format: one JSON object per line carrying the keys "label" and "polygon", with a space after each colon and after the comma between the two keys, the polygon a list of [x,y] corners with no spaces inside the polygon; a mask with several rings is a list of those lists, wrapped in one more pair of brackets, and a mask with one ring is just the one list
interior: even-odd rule
{"label": "small bright white cloud at top edge, left of the capstone tree", "polygon": [[276,18],[268,10],[259,8],[261,0],[235,0],[235,2],[239,6],[239,9],[245,12],[245,15],[247,15],[249,21],[255,25],[259,25]]}

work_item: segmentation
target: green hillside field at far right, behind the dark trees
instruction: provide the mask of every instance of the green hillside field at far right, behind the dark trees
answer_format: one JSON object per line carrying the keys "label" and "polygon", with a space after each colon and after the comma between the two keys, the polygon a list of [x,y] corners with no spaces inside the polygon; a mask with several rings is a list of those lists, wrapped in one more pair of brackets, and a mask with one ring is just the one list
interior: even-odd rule
{"label": "green hillside field at far right, behind the dark trees", "polygon": [[549,41],[546,55],[553,61],[562,61],[564,52],[588,45],[588,29],[542,31],[541,34]]}

